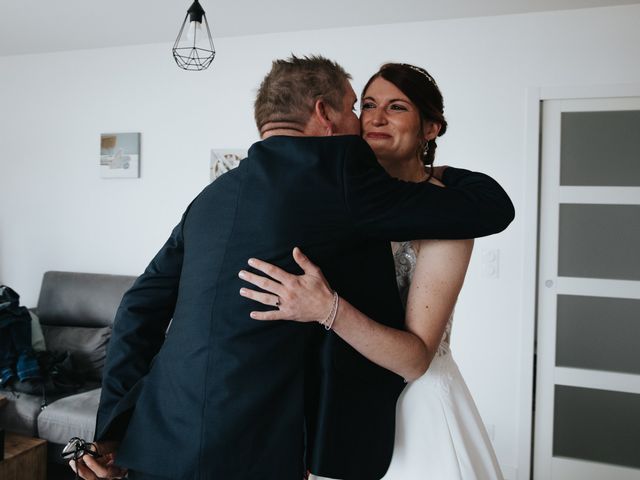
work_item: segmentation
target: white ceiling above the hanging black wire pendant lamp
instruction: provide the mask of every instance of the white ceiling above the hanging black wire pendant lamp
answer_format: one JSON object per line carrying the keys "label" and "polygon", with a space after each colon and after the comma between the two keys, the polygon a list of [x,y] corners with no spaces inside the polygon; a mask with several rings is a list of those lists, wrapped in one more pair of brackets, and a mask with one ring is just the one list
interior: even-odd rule
{"label": "white ceiling above the hanging black wire pendant lamp", "polygon": [[[171,43],[192,0],[2,0],[0,56]],[[200,0],[216,37],[603,7],[640,0]]]}

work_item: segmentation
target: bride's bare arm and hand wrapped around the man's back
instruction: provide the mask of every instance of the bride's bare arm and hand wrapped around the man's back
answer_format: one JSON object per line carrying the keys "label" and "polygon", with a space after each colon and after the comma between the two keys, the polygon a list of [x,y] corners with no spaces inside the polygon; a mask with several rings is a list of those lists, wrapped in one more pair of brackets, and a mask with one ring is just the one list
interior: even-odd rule
{"label": "bride's bare arm and hand wrapped around the man's back", "polygon": [[[437,350],[462,287],[471,248],[472,241],[467,240],[420,242],[418,265],[407,305],[410,331],[379,324],[342,298],[333,330],[363,356],[407,381],[420,377]],[[265,305],[279,303],[278,310],[251,312],[252,318],[299,322],[323,322],[327,319],[333,301],[331,288],[320,269],[299,249],[294,249],[294,259],[304,275],[292,275],[256,259],[252,259],[250,265],[273,280],[240,272],[241,278],[270,292],[243,288],[241,295]],[[435,262],[435,265],[427,266],[427,261]],[[426,276],[429,278],[423,278]]]}

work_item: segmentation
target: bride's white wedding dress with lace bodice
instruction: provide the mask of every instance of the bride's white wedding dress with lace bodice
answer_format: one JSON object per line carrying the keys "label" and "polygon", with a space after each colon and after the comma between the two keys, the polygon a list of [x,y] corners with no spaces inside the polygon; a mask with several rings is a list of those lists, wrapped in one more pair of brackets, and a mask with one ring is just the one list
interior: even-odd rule
{"label": "bride's white wedding dress with lace bodice", "polygon": [[[396,277],[406,305],[416,252],[411,242],[397,246]],[[452,320],[453,315],[427,372],[407,384],[398,399],[393,458],[384,480],[503,479],[478,409],[451,356]]]}

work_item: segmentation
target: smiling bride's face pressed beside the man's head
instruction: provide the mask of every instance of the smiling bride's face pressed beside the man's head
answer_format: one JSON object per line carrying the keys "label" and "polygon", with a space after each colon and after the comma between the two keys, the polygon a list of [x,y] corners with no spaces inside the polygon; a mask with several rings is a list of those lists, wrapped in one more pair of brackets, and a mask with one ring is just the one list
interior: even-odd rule
{"label": "smiling bride's face pressed beside the man's head", "polygon": [[361,100],[362,136],[381,161],[414,160],[424,135],[418,108],[393,83],[378,77]]}

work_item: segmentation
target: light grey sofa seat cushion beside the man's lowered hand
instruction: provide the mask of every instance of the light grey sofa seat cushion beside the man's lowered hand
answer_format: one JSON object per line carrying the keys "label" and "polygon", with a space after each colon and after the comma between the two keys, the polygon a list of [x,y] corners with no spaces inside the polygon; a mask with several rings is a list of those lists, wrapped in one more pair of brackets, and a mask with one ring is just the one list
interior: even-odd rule
{"label": "light grey sofa seat cushion beside the man's lowered hand", "polygon": [[100,391],[96,388],[50,403],[38,416],[38,436],[62,444],[72,437],[93,440]]}

